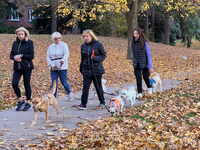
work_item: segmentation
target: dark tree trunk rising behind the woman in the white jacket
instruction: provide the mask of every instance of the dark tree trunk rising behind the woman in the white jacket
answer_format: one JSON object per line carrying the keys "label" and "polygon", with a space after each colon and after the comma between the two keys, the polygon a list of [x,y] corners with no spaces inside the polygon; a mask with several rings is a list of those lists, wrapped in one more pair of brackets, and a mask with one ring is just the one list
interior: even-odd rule
{"label": "dark tree trunk rising behind the woman in the white jacket", "polygon": [[51,33],[57,31],[57,15],[55,14],[57,1],[51,1]]}

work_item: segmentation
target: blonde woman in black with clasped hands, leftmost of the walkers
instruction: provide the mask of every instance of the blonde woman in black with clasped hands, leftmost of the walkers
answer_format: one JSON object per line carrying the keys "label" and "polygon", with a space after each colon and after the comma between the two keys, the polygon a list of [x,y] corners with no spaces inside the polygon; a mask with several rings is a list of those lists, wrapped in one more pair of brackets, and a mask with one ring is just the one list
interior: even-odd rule
{"label": "blonde woman in black with clasped hands, leftmost of the walkers", "polygon": [[[31,109],[31,73],[34,69],[32,59],[34,58],[33,41],[29,40],[29,32],[24,27],[20,27],[15,31],[17,38],[13,42],[12,50],[10,52],[10,59],[13,63],[13,78],[12,87],[17,95],[18,105],[16,111],[28,111]],[[22,99],[21,91],[19,89],[19,80],[23,75],[23,82],[26,91],[26,100]]]}

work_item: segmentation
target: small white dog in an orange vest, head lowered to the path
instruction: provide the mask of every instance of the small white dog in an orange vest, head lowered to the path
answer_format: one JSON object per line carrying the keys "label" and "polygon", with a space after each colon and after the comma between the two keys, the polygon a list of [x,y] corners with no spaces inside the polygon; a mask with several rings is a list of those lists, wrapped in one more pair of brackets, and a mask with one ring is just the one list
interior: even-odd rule
{"label": "small white dog in an orange vest, head lowered to the path", "polygon": [[116,96],[114,98],[111,98],[108,110],[109,113],[111,114],[111,117],[116,116],[116,114],[119,115],[119,112],[122,112],[123,107],[124,107],[124,102],[121,96]]}

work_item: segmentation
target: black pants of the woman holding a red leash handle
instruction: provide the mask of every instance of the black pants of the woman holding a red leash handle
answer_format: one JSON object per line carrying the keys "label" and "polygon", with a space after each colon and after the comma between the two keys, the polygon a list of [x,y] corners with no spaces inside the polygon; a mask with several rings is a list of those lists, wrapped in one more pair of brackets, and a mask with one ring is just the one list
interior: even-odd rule
{"label": "black pants of the woman holding a red leash handle", "polygon": [[101,85],[101,78],[102,75],[97,75],[96,78],[95,76],[83,76],[83,93],[81,96],[81,104],[86,107],[87,105],[87,101],[88,101],[88,95],[89,95],[89,88],[90,88],[90,84],[93,81],[94,86],[96,88],[97,91],[97,95],[100,101],[100,104],[105,104],[105,99],[104,99],[104,95],[103,95],[103,89],[102,89],[102,85]]}

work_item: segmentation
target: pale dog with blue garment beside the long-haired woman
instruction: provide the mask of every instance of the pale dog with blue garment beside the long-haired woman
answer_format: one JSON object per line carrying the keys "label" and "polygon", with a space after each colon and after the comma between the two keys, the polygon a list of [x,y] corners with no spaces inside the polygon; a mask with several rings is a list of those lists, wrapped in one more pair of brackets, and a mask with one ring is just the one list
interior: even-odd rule
{"label": "pale dog with blue garment beside the long-haired woman", "polygon": [[159,85],[160,86],[160,91],[162,92],[162,81],[160,79],[160,76],[158,75],[157,72],[153,72],[151,74],[152,78],[150,80],[150,85],[152,87],[152,92],[156,92],[156,87]]}

